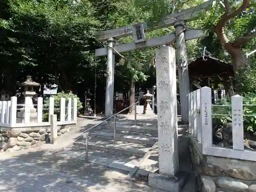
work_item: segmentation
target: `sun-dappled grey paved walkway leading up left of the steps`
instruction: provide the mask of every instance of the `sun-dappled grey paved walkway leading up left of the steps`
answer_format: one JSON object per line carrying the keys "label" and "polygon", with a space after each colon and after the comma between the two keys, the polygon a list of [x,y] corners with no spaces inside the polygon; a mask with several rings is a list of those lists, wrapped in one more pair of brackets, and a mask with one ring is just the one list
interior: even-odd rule
{"label": "sun-dappled grey paved walkway leading up left of the steps", "polygon": [[[50,155],[100,121],[80,118],[78,126],[59,137],[54,145],[43,144],[29,150],[0,154],[0,191],[160,192],[132,181],[127,173],[120,170],[84,163],[70,157]],[[191,192],[191,187],[185,188]]]}

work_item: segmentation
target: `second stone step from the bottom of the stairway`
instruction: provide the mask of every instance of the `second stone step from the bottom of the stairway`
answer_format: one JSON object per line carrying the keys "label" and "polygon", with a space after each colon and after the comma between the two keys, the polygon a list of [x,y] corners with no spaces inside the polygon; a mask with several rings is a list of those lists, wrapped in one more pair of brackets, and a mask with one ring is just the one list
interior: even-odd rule
{"label": "second stone step from the bottom of the stairway", "polygon": [[[84,139],[77,140],[74,142],[74,145],[86,147],[86,141]],[[90,137],[88,142],[88,148],[93,150],[136,157],[143,157],[150,147],[151,145],[124,141],[116,141],[115,143],[113,140],[99,139],[95,137]]]}

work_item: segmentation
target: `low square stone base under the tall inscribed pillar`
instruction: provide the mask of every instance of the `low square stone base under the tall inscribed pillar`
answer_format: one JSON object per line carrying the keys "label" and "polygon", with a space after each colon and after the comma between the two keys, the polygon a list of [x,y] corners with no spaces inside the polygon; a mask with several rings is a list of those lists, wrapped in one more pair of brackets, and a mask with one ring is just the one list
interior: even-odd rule
{"label": "low square stone base under the tall inscribed pillar", "polygon": [[185,172],[178,172],[175,177],[152,173],[148,175],[148,186],[169,192],[180,192],[188,176]]}

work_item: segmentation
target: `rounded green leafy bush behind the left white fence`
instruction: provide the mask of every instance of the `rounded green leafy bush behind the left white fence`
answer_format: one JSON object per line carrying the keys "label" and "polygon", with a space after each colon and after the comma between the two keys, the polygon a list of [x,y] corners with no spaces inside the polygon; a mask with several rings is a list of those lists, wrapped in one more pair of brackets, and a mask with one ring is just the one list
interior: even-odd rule
{"label": "rounded green leafy bush behind the left white fence", "polygon": [[[60,113],[60,99],[61,98],[65,98],[66,101],[69,99],[69,98],[77,98],[77,113],[80,114],[81,110],[82,110],[82,102],[80,101],[80,99],[77,97],[77,95],[74,95],[73,93],[64,93],[64,92],[60,92],[60,93],[57,93],[56,95],[53,96],[54,98],[54,114],[57,114],[57,118],[59,120],[59,113]],[[44,100],[44,104],[46,106],[46,108],[49,108],[49,97],[45,98]],[[67,105],[66,105],[67,107]],[[44,111],[43,111],[44,112]],[[43,119],[44,121],[48,121],[48,115],[49,115],[49,111],[47,112],[44,112],[43,113]]]}

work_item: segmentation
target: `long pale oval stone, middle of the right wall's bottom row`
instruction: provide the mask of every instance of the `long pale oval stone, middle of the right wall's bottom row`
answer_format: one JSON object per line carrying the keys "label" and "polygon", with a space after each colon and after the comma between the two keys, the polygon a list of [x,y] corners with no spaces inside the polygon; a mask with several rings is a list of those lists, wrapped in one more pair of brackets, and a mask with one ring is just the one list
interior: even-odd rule
{"label": "long pale oval stone, middle of the right wall's bottom row", "polygon": [[249,186],[246,185],[245,183],[242,183],[241,181],[230,177],[218,177],[216,180],[216,184],[224,189],[230,189],[233,191],[241,192],[249,188]]}

